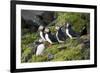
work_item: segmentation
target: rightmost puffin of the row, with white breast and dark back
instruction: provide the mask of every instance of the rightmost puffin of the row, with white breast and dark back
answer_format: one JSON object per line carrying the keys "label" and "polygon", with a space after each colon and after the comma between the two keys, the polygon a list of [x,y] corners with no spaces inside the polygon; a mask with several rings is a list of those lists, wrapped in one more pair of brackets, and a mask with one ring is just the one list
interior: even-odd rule
{"label": "rightmost puffin of the row, with white breast and dark back", "polygon": [[76,33],[73,29],[72,29],[72,26],[71,24],[67,23],[65,25],[65,28],[66,28],[66,35],[70,38],[70,39],[73,39],[73,37],[78,37],[79,34]]}

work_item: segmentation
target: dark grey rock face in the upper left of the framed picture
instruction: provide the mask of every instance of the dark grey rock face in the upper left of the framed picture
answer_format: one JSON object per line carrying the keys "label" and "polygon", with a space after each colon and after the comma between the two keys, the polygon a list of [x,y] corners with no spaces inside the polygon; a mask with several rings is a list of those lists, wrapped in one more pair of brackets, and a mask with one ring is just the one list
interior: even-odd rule
{"label": "dark grey rock face in the upper left of the framed picture", "polygon": [[47,26],[53,20],[54,12],[21,10],[21,27],[22,29],[28,29],[28,32],[36,32],[40,25]]}

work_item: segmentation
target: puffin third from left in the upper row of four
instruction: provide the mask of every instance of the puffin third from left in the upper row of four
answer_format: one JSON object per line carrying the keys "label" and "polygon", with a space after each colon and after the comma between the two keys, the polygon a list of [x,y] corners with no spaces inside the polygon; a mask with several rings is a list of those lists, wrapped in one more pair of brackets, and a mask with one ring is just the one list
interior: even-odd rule
{"label": "puffin third from left in the upper row of four", "polygon": [[64,32],[63,27],[56,26],[56,38],[59,43],[63,43],[66,39],[66,32]]}

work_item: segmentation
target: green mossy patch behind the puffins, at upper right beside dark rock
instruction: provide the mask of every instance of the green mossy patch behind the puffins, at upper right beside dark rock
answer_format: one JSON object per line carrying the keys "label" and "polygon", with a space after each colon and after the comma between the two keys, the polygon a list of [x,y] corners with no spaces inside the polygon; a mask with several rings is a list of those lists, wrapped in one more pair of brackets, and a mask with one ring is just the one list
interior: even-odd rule
{"label": "green mossy patch behind the puffins, at upper right beside dark rock", "polygon": [[[75,31],[80,31],[84,25],[89,27],[88,13],[73,13],[73,12],[57,12],[57,23],[56,25],[65,25],[65,22],[70,22],[73,25]],[[78,27],[77,27],[78,26]]]}

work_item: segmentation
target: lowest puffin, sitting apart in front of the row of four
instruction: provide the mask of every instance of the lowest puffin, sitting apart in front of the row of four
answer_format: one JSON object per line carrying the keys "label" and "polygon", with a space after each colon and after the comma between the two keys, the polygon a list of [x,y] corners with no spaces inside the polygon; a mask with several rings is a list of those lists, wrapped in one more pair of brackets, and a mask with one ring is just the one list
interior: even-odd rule
{"label": "lowest puffin, sitting apart in front of the row of four", "polygon": [[38,41],[35,42],[34,44],[34,53],[36,56],[39,56],[39,55],[43,55],[43,51],[45,49],[45,45],[43,43],[43,40],[42,39],[39,39]]}

